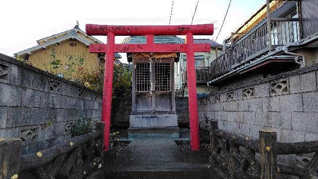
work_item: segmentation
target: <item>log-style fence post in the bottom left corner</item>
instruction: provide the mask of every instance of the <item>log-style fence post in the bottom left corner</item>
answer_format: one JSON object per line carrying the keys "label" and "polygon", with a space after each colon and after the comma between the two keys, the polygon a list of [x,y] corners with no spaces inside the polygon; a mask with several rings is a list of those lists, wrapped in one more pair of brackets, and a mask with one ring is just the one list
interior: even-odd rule
{"label": "log-style fence post in the bottom left corner", "polygon": [[21,165],[21,140],[0,138],[0,179],[17,179]]}

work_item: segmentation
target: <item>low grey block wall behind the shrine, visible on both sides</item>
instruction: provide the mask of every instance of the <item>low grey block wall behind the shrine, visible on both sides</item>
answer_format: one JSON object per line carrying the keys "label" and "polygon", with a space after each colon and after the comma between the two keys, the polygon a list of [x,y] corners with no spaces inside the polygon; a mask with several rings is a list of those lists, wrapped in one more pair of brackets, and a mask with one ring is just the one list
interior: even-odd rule
{"label": "low grey block wall behind the shrine, visible on both sides", "polygon": [[[131,115],[131,97],[116,97],[112,100],[111,125],[113,127],[129,127],[129,116]],[[178,126],[189,126],[188,98],[175,98],[175,111],[178,115]]]}

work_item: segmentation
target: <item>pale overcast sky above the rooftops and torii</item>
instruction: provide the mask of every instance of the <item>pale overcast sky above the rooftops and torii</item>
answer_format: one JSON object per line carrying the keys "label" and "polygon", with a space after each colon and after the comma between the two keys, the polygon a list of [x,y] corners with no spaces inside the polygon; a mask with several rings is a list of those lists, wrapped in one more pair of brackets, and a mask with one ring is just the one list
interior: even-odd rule
{"label": "pale overcast sky above the rooftops and torii", "polygon": [[[215,24],[216,38],[230,0],[199,0],[193,24]],[[171,25],[191,24],[197,0],[174,0]],[[217,42],[221,43],[265,0],[232,0]],[[172,0],[2,0],[0,53],[13,53],[37,45],[36,40],[73,28],[76,20],[108,25],[168,25]],[[96,36],[102,42],[106,37]],[[117,36],[120,43],[124,36]],[[122,62],[127,62],[126,55]]]}

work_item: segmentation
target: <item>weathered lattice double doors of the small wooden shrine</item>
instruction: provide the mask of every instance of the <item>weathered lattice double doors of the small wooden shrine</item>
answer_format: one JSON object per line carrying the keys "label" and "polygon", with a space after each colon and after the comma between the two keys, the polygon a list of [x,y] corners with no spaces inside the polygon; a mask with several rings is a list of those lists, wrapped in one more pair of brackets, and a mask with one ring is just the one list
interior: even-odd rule
{"label": "weathered lattice double doors of the small wooden shrine", "polygon": [[174,57],[133,54],[133,114],[175,114]]}

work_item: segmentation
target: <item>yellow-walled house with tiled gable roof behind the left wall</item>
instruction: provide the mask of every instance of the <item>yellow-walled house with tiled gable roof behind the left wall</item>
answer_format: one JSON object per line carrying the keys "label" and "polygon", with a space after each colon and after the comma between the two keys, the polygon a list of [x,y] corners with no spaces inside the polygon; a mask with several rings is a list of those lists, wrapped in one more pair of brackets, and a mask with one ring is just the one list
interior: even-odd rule
{"label": "yellow-walled house with tiled gable roof behind the left wall", "polygon": [[[83,60],[81,66],[89,71],[98,65],[103,65],[105,62],[105,54],[89,53],[88,50],[89,44],[102,42],[92,36],[88,36],[79,28],[79,25],[70,30],[39,39],[36,42],[38,45],[17,52],[14,55],[21,57],[34,67],[48,72],[55,71],[53,69],[54,66],[51,64],[54,59],[61,60],[61,65],[56,71],[60,77],[65,76],[67,70],[71,68],[68,64],[72,65],[73,62],[75,63],[73,66],[77,66],[80,63],[79,61]],[[119,59],[121,56],[116,53],[115,58]],[[76,71],[71,72],[71,76],[75,74]]]}

